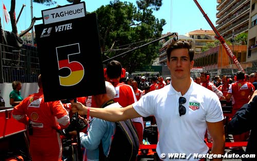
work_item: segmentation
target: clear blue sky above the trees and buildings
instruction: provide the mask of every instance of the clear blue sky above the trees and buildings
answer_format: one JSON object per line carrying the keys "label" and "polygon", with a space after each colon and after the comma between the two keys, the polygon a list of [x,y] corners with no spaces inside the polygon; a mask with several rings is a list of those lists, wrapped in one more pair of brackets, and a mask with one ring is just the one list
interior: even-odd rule
{"label": "clear blue sky above the trees and buildings", "polygon": [[[21,13],[19,22],[17,23],[18,33],[27,29],[31,23],[31,3],[32,0],[16,0],[15,13],[16,18],[19,15],[23,4],[26,5]],[[66,0],[54,0],[59,5],[69,4]],[[121,2],[125,2],[120,0]],[[82,0],[86,4],[87,12],[93,12],[102,5],[108,5],[110,0]],[[136,3],[136,0],[127,0],[127,2]],[[205,11],[214,26],[216,18],[216,0],[198,0],[201,8]],[[2,7],[0,9],[2,28],[11,31],[11,23],[6,24],[3,16],[3,3],[7,11],[10,11],[11,0],[2,0]],[[136,4],[135,4],[136,5]],[[41,10],[56,7],[56,5],[46,6],[37,3],[32,4],[33,17],[41,17]],[[185,35],[194,30],[212,30],[203,14],[200,12],[193,0],[162,0],[162,6],[159,11],[154,11],[154,15],[158,19],[165,19],[166,25],[163,26],[162,34],[167,32],[178,32],[179,35]],[[36,21],[35,25],[42,24],[43,21]]]}

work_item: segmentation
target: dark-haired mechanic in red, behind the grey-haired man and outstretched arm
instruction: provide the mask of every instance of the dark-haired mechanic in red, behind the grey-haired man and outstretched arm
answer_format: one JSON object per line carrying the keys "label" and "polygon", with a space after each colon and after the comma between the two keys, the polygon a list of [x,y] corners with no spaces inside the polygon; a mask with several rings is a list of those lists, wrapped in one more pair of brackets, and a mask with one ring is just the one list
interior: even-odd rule
{"label": "dark-haired mechanic in red, behind the grey-haired man and outstretched arm", "polygon": [[[133,88],[130,85],[119,83],[120,78],[125,76],[125,71],[120,62],[111,61],[107,64],[105,77],[106,80],[113,84],[116,95],[114,101],[118,102],[122,107],[127,107],[135,102],[137,102],[136,95]],[[138,138],[140,143],[143,142],[143,118],[137,117],[133,118],[132,122],[137,130]]]}

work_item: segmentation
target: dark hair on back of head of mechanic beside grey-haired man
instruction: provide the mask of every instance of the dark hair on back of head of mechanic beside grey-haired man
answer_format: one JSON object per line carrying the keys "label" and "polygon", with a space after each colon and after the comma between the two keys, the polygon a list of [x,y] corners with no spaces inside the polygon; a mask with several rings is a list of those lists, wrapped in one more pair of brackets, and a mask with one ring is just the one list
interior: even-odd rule
{"label": "dark hair on back of head of mechanic beside grey-haired man", "polygon": [[111,61],[107,64],[107,67],[106,67],[107,77],[109,77],[110,79],[118,78],[121,75],[121,70],[122,70],[122,66],[120,62]]}

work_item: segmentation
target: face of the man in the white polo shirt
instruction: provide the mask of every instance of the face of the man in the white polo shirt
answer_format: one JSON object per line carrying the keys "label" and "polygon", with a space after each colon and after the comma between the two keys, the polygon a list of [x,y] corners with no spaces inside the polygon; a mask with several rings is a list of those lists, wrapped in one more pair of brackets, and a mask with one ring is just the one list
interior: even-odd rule
{"label": "face of the man in the white polo shirt", "polygon": [[193,65],[194,61],[190,61],[188,49],[173,50],[170,55],[170,60],[167,61],[172,79],[190,77],[190,69],[193,68]]}

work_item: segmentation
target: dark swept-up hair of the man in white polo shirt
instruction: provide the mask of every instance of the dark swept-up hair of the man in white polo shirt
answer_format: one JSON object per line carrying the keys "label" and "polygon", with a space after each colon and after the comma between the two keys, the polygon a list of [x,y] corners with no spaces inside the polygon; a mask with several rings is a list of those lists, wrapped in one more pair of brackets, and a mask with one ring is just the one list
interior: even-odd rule
{"label": "dark swept-up hair of the man in white polo shirt", "polygon": [[189,42],[181,42],[181,41],[173,41],[167,48],[166,53],[167,53],[167,58],[168,61],[170,61],[171,57],[171,52],[174,49],[188,49],[190,61],[193,61],[194,58],[194,50],[192,49],[192,45]]}

